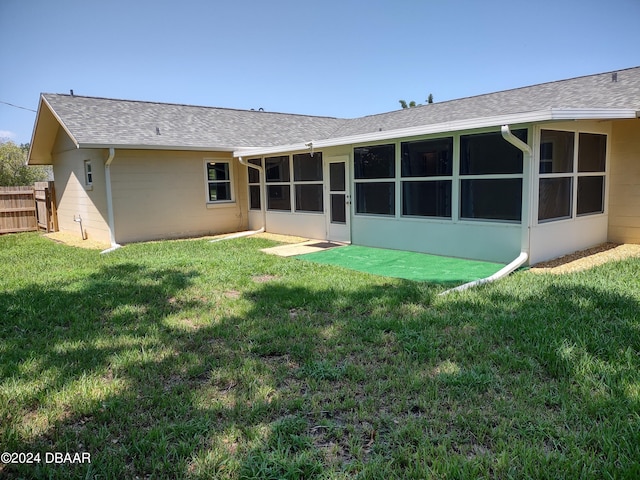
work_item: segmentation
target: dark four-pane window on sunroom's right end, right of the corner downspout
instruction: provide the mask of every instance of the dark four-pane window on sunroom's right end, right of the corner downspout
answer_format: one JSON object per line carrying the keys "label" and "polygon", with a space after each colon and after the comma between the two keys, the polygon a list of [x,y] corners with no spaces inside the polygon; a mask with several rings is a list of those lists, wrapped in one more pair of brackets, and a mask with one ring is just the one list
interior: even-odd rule
{"label": "dark four-pane window on sunroom's right end, right of the corner downspout", "polygon": [[539,222],[604,212],[606,151],[606,135],[540,132]]}

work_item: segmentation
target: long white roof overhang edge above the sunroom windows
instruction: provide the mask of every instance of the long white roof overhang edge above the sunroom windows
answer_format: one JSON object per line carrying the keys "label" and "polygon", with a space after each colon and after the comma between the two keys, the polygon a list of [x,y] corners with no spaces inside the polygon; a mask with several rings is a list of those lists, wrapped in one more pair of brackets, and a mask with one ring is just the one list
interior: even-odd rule
{"label": "long white roof overhang edge above the sunroom windows", "polygon": [[549,108],[531,112],[514,113],[492,117],[471,118],[451,122],[434,123],[417,127],[383,130],[378,132],[329,138],[325,140],[309,139],[308,142],[269,147],[244,147],[234,150],[234,157],[272,155],[285,152],[308,150],[310,143],[314,149],[340,145],[362,144],[391,140],[397,138],[432,135],[438,133],[459,132],[480,128],[499,127],[502,125],[530,124],[549,121],[567,120],[614,120],[638,118],[638,111],[629,108]]}

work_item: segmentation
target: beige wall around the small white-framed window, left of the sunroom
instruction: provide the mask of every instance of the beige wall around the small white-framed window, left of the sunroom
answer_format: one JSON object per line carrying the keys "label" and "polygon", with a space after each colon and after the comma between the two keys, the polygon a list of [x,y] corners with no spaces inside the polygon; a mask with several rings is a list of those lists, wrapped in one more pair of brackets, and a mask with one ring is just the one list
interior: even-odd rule
{"label": "beige wall around the small white-framed window, left of the sunroom", "polygon": [[[205,158],[231,160],[234,202],[207,204]],[[116,150],[111,164],[116,241],[245,230],[246,168],[229,153]]]}

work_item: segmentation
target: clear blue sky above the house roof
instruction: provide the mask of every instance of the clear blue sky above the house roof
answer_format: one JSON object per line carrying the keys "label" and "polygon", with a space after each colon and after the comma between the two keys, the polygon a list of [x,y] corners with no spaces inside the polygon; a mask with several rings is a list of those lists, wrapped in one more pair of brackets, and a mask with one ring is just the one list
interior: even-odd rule
{"label": "clear blue sky above the house roof", "polygon": [[[640,66],[640,0],[0,0],[0,102],[40,92],[359,117]],[[0,138],[35,113],[0,103]]]}

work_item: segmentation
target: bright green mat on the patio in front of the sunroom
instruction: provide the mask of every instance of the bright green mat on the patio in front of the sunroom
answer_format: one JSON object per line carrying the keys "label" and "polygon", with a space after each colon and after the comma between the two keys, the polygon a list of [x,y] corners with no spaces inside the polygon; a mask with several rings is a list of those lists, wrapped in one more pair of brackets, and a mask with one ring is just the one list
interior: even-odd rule
{"label": "bright green mat on the patio in front of the sunroom", "polygon": [[296,258],[419,282],[466,283],[493,275],[504,264],[347,245]]}

